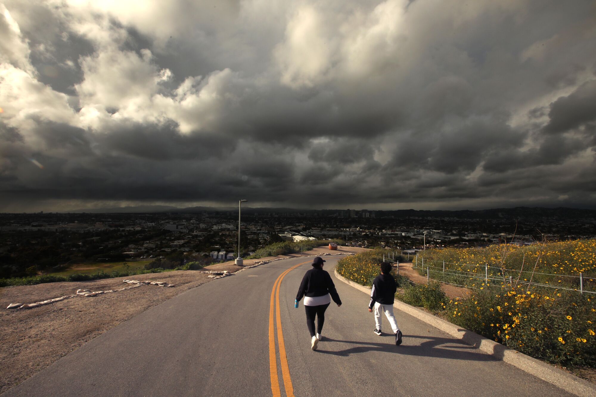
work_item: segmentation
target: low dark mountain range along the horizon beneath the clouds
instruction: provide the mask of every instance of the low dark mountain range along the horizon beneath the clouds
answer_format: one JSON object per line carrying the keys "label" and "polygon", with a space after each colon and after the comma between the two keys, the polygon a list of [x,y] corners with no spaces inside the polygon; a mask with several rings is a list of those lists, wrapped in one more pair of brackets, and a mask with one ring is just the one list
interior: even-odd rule
{"label": "low dark mountain range along the horizon beneath the clouds", "polygon": [[[131,206],[131,207],[113,207],[113,208],[94,208],[79,209],[69,211],[69,213],[202,213],[202,212],[236,212],[238,207],[187,207],[178,208],[172,206]],[[338,209],[293,209],[293,208],[252,208],[243,207],[243,214],[254,215],[263,213],[300,213],[333,215],[344,213],[346,210]],[[360,212],[360,210],[357,210]],[[373,212],[373,210],[368,210]],[[515,208],[495,208],[486,210],[375,210],[377,217],[393,216],[394,218],[458,218],[458,219],[596,219],[596,210],[577,209],[577,208],[541,208],[541,207],[515,207]]]}

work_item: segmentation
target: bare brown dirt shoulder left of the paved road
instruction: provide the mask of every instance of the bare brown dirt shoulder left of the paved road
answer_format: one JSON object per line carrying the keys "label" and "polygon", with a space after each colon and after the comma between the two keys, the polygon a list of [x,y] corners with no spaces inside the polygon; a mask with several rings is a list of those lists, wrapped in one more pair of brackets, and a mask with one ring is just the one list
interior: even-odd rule
{"label": "bare brown dirt shoulder left of the paved road", "polygon": [[122,282],[125,278],[0,288],[0,393],[120,322],[212,281],[200,271],[143,274],[129,278],[163,280],[175,287],[149,285],[97,297],[76,296],[39,308],[6,309],[13,302],[33,303],[71,295],[79,288],[94,291],[121,288],[127,285]]}

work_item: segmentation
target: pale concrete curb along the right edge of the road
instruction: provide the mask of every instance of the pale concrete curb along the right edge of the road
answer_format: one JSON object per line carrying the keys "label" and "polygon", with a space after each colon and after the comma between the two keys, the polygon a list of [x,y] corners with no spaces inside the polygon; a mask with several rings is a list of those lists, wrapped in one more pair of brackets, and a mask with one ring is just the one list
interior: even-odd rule
{"label": "pale concrete curb along the right edge of the road", "polygon": [[[335,276],[338,280],[343,281],[349,286],[362,291],[368,295],[371,293],[371,289],[368,287],[361,286],[360,284],[354,283],[353,281],[347,280],[342,275],[334,271]],[[581,397],[592,397],[596,395],[596,386],[586,380],[580,379],[572,374],[566,373],[563,370],[552,367],[552,365],[545,362],[539,361],[538,359],[532,358],[524,353],[520,353],[516,350],[510,349],[507,346],[496,343],[493,340],[480,336],[470,330],[460,328],[455,324],[451,324],[449,321],[445,321],[442,318],[436,317],[429,314],[421,309],[410,306],[407,303],[396,300],[393,303],[393,307],[412,315],[418,320],[422,320],[427,324],[432,325],[439,330],[448,333],[449,335],[460,339],[467,345],[474,346],[477,349],[485,353],[489,353],[496,359],[507,362],[514,367],[520,368],[522,371],[526,371],[533,376],[545,380],[548,383],[552,383],[557,387],[565,390],[566,392],[575,394]]]}

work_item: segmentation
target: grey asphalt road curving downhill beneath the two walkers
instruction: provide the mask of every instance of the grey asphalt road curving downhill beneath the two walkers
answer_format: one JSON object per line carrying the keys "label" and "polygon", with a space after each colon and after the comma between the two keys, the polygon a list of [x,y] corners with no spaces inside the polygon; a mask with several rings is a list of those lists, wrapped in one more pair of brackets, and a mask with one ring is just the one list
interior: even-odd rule
{"label": "grey asphalt road curving downhill beneath the two walkers", "polygon": [[[343,305],[331,303],[324,338],[313,352],[302,302],[294,308],[309,263],[289,271],[280,284],[289,370],[284,383],[277,343],[276,365],[270,367],[272,289],[284,271],[307,259],[312,258],[278,260],[188,290],[97,337],[3,396],[271,396],[276,370],[274,389],[279,387],[281,395],[290,380],[296,396],[569,395],[399,311],[404,337],[395,346],[393,336],[373,333],[368,297],[338,280]],[[325,269],[333,275],[337,257],[325,259]]]}

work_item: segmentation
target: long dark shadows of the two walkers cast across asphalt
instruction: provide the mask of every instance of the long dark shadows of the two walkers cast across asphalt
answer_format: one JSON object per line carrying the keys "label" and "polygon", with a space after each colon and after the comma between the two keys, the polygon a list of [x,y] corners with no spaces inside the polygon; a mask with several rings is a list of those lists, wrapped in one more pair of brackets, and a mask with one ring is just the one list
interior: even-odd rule
{"label": "long dark shadows of the two walkers cast across asphalt", "polygon": [[[417,345],[408,345],[408,339],[426,340]],[[449,338],[403,335],[403,343],[400,346],[396,346],[394,343],[391,343],[393,342],[393,336],[390,336],[384,340],[387,340],[387,342],[356,342],[355,340],[337,340],[325,337],[325,339],[322,340],[324,343],[321,345],[326,345],[326,342],[336,342],[347,343],[356,346],[340,351],[317,349],[316,352],[336,356],[349,356],[351,354],[366,352],[386,352],[409,356],[427,356],[469,361],[497,361],[497,359],[491,355],[477,352],[477,349],[474,346],[466,345],[465,343],[459,342],[458,340]]]}

